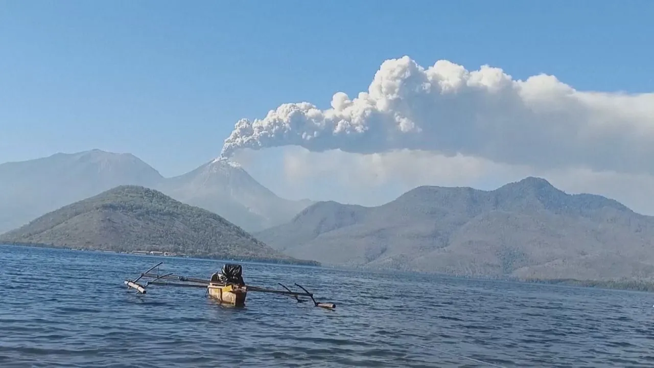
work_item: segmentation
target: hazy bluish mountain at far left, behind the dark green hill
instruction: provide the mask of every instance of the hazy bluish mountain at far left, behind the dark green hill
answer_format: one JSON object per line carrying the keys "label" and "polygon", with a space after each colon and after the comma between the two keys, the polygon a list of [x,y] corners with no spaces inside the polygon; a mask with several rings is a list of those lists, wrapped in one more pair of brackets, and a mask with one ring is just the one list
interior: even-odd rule
{"label": "hazy bluish mountain at far left, behind the dark green hill", "polygon": [[99,149],[0,164],[0,233],[118,185],[162,179],[134,155]]}

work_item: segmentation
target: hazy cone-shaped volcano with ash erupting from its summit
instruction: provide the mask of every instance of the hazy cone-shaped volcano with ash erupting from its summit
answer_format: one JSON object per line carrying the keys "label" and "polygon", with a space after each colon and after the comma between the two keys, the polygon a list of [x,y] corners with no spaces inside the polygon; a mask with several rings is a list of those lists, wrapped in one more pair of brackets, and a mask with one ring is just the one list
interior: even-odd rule
{"label": "hazy cone-shaped volcano with ash erupting from its summit", "polygon": [[284,223],[313,203],[279,198],[239,164],[224,158],[167,179],[158,189],[184,203],[224,213],[249,231]]}

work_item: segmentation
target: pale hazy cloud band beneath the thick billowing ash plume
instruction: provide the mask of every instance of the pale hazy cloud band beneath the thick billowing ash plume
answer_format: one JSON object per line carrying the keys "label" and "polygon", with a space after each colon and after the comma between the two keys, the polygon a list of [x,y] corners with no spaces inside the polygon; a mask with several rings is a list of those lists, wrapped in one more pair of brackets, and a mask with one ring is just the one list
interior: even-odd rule
{"label": "pale hazy cloud band beneath the thick billowing ash plume", "polygon": [[[286,147],[281,153],[282,159],[272,166],[268,151],[245,150],[237,158],[247,157],[246,170],[275,193],[292,199],[376,206],[419,185],[492,190],[531,175],[544,177],[566,193],[600,194],[636,212],[654,215],[654,176],[649,174],[593,172],[587,168],[539,170],[473,156],[406,149],[363,155]],[[261,164],[266,169],[257,168],[257,162],[266,162]]]}

